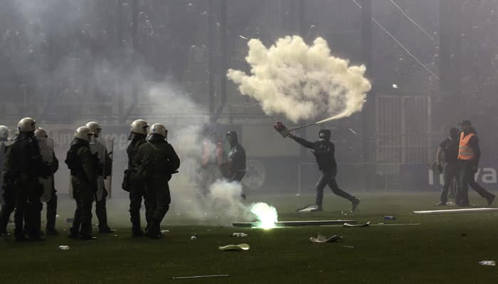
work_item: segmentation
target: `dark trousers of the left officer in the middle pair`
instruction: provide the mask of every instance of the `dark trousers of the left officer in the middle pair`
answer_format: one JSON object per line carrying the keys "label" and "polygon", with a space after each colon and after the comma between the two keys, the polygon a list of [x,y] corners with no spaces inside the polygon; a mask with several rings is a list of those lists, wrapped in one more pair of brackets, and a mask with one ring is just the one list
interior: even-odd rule
{"label": "dark trousers of the left officer in the middle pair", "polygon": [[78,177],[71,176],[73,197],[76,202],[75,217],[70,231],[73,235],[92,235],[92,203],[95,196],[92,187]]}

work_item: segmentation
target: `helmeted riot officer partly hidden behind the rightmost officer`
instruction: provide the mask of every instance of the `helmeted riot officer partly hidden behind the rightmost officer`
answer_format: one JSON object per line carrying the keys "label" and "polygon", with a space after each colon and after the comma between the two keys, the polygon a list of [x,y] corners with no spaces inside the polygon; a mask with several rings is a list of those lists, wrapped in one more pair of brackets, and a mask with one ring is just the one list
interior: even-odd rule
{"label": "helmeted riot officer partly hidden behind the rightmost officer", "polygon": [[[130,126],[129,140],[131,141],[127,148],[128,154],[128,169],[124,173],[124,190],[129,191],[129,217],[132,222],[132,236],[144,236],[144,231],[142,231],[142,226],[140,225],[140,207],[142,207],[142,199],[145,195],[145,186],[143,182],[137,179],[137,173],[133,166],[133,160],[135,155],[137,155],[138,149],[142,144],[147,143],[147,130],[149,129],[149,124],[147,121],[138,119],[133,121]],[[146,206],[147,209],[147,206]],[[149,215],[145,213],[147,223],[149,222]]]}

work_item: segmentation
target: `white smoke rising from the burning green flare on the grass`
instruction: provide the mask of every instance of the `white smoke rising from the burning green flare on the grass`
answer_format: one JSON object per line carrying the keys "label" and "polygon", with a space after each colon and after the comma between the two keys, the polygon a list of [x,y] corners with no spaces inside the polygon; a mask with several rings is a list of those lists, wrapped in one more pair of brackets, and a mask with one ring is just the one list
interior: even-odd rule
{"label": "white smoke rising from the burning green flare on the grass", "polygon": [[[245,204],[240,196],[243,185],[228,182],[221,178],[221,173],[211,180],[207,192],[203,192],[203,143],[211,143],[208,148],[215,148],[214,141],[205,140],[203,124],[208,122],[204,109],[194,103],[188,94],[175,82],[150,84],[144,88],[144,99],[160,107],[163,114],[178,114],[188,111],[198,114],[200,119],[191,126],[171,129],[168,141],[174,146],[181,158],[179,173],[169,182],[171,190],[171,212],[169,217],[181,217],[181,224],[202,224],[231,226],[233,222],[255,221],[257,214],[251,212],[252,205]],[[147,119],[149,114],[144,114]],[[170,129],[168,121],[148,121],[149,124],[164,123]],[[219,172],[219,170],[218,170]],[[216,175],[216,170],[214,171]],[[262,204],[262,203],[258,203]],[[258,205],[260,207],[261,205]],[[258,211],[259,212],[259,211]],[[264,212],[263,212],[264,213]],[[276,214],[276,209],[275,209]],[[171,216],[172,215],[172,216]],[[264,218],[264,217],[263,217]]]}

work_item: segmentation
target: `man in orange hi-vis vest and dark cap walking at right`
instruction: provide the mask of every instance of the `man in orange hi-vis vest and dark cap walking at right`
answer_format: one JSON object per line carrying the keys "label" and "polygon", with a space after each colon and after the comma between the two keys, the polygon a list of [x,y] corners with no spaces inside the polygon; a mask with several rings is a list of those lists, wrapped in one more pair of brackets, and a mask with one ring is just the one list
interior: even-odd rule
{"label": "man in orange hi-vis vest and dark cap walking at right", "polygon": [[458,147],[458,160],[461,165],[460,189],[457,192],[455,203],[460,206],[469,206],[468,185],[470,185],[481,197],[487,200],[487,206],[490,206],[494,201],[494,195],[484,190],[475,181],[475,173],[477,173],[477,165],[479,165],[481,156],[477,132],[469,120],[462,121],[460,126],[462,127]]}

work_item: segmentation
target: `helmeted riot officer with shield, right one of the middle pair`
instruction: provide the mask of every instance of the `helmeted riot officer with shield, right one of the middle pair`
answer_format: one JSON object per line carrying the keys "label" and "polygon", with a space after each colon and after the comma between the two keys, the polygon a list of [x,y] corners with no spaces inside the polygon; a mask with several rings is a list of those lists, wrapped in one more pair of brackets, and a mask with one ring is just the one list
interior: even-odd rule
{"label": "helmeted riot officer with shield, right one of the middle pair", "polygon": [[[97,170],[97,193],[95,197],[95,214],[99,220],[99,233],[109,234],[116,230],[110,229],[107,224],[107,204],[106,198],[109,195],[107,189],[105,188],[105,179],[111,174],[112,170],[112,160],[109,157],[107,148],[98,139],[100,133],[102,132],[102,127],[95,121],[90,121],[86,125],[90,131],[92,131],[92,137],[90,138],[90,150],[99,160],[99,169]],[[110,189],[109,189],[110,190]]]}

